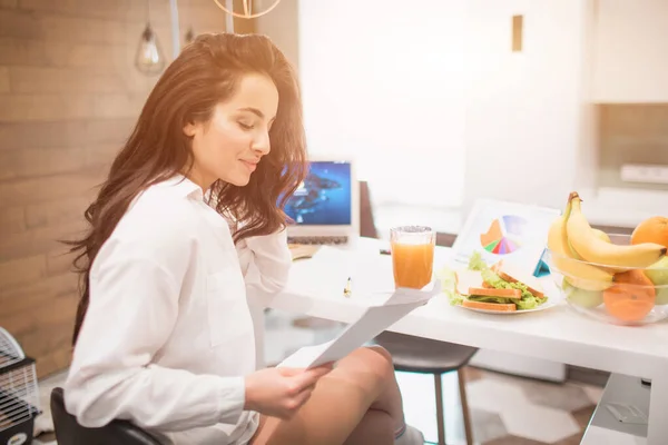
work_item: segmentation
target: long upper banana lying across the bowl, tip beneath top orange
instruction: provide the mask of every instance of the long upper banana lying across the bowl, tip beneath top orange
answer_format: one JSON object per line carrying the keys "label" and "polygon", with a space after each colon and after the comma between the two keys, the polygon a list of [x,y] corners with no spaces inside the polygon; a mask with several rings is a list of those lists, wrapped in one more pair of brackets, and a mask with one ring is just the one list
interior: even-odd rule
{"label": "long upper banana lying across the bowl, tip beneath top orange", "polygon": [[655,243],[619,246],[599,238],[582,214],[580,196],[569,197],[571,211],[567,221],[567,237],[571,247],[587,261],[602,266],[644,268],[666,255],[666,247]]}

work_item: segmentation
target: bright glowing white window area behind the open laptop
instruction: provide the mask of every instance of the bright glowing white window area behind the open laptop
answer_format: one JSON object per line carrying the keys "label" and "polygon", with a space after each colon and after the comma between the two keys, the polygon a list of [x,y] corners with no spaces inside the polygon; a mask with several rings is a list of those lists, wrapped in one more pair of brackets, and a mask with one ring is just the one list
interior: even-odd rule
{"label": "bright glowing white window area behind the open laptop", "polygon": [[462,201],[465,3],[298,2],[310,150],[356,154],[375,205]]}

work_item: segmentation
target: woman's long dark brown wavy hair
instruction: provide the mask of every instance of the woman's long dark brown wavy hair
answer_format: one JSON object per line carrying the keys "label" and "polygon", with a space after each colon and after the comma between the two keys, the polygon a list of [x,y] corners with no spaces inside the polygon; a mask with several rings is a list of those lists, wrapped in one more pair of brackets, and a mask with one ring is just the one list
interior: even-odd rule
{"label": "woman's long dark brown wavy hair", "polygon": [[268,76],[278,90],[278,110],[269,131],[271,152],[245,187],[217,180],[212,196],[216,210],[244,221],[235,243],[283,228],[285,201],[307,170],[302,99],[296,75],[271,40],[257,34],[202,34],[186,46],[165,70],[139,115],[127,142],[111,165],[97,199],[86,209],[89,229],[69,241],[76,253],[81,299],[72,344],[76,344],[89,301],[90,266],[132,199],[147,187],[187,172],[193,165],[188,122],[206,122],[214,107],[228,99],[246,73]]}

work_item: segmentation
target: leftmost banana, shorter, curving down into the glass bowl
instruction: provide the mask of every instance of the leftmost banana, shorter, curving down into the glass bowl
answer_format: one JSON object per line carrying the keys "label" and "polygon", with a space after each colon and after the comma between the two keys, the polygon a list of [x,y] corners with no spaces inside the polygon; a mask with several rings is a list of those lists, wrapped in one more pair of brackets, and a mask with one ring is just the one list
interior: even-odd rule
{"label": "leftmost banana, shorter, curving down into the glass bowl", "polygon": [[554,219],[548,233],[548,248],[557,271],[572,286],[584,290],[605,290],[612,286],[613,275],[574,258],[568,243],[567,221],[571,215],[571,200],[563,215]]}

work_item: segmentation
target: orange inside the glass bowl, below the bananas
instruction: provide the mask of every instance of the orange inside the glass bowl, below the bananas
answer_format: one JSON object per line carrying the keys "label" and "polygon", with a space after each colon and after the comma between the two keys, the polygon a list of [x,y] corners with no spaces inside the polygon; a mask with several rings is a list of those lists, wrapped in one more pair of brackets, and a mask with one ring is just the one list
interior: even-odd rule
{"label": "orange inside the glass bowl, below the bananas", "polygon": [[651,312],[657,293],[642,270],[615,275],[615,285],[603,291],[608,314],[622,322],[639,322]]}

